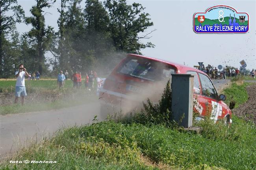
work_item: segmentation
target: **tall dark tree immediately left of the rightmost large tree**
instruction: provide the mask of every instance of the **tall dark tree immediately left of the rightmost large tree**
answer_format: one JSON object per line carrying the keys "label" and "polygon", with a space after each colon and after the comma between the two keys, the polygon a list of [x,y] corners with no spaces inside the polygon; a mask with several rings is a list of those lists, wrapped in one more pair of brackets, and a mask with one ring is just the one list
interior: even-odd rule
{"label": "tall dark tree immediately left of the rightmost large tree", "polygon": [[[114,50],[113,41],[109,33],[109,15],[102,2],[98,0],[87,0],[84,9],[85,18],[85,44],[84,53],[93,52],[97,65],[102,69],[106,67],[109,61],[109,53]],[[92,53],[91,53],[92,54]],[[90,58],[87,57],[85,64],[90,64]]]}

